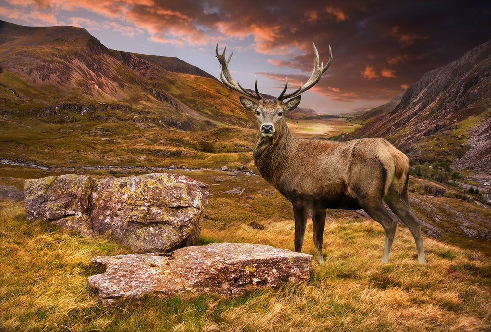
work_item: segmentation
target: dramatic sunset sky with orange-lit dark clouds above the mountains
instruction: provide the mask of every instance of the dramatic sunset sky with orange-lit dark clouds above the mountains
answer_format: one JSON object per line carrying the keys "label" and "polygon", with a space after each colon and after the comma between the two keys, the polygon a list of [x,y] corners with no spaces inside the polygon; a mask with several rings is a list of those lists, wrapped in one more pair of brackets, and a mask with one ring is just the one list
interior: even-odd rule
{"label": "dramatic sunset sky with orange-lit dark clouds above the mountains", "polygon": [[491,39],[491,1],[443,0],[0,0],[0,19],[76,26],[105,46],[175,56],[219,77],[215,46],[232,76],[278,97],[320,61],[333,61],[300,107],[336,114],[376,107],[424,73]]}

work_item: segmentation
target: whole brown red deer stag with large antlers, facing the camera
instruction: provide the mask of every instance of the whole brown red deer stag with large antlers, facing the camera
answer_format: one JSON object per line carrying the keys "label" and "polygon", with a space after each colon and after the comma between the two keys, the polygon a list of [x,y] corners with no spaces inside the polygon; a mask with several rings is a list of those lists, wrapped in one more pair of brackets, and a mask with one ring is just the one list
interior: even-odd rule
{"label": "whole brown red deer stag with large antlers, facing the camera", "polygon": [[[276,99],[263,99],[255,92],[244,89],[230,74],[228,64],[233,52],[225,59],[225,51],[216,57],[220,62],[222,82],[247,97],[240,96],[242,105],[257,115],[257,135],[254,146],[254,164],[262,177],[271,183],[293,205],[295,217],[295,251],[300,252],[305,235],[307,216],[312,211],[314,245],[317,259],[324,262],[322,241],[326,209],[363,209],[385,230],[382,263],[389,260],[394,241],[397,219],[390,209],[408,226],[416,242],[419,263],[425,264],[421,222],[412,212],[408,200],[408,157],[383,138],[363,138],[348,142],[300,139],[292,136],[284,113],[295,109],[300,94],[314,86],[332,62],[319,66],[319,53],[314,48],[314,70],[309,80],[292,93],[285,88]],[[223,78],[225,76],[225,79]],[[290,100],[283,102],[285,99]]]}

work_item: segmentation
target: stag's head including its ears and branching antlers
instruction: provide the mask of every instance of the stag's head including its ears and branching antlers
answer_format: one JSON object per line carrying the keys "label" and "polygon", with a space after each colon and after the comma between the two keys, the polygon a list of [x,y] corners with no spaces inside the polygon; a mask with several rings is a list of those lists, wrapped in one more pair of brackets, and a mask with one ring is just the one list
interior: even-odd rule
{"label": "stag's head including its ears and branching antlers", "polygon": [[[226,86],[228,86],[232,90],[252,98],[250,99],[243,96],[239,97],[241,104],[247,110],[254,111],[256,113],[258,130],[263,137],[272,137],[274,133],[278,132],[277,130],[278,126],[284,125],[283,114],[286,111],[291,111],[295,109],[300,104],[300,99],[301,99],[300,94],[307,91],[308,89],[313,87],[317,82],[319,82],[322,74],[331,65],[332,50],[330,46],[329,46],[330,58],[325,66],[323,66],[322,62],[319,65],[319,52],[317,51],[314,43],[312,43],[312,47],[314,49],[314,70],[312,71],[312,75],[310,75],[310,78],[308,79],[307,83],[305,83],[304,85],[302,82],[300,84],[300,88],[298,88],[296,91],[292,93],[286,93],[286,90],[288,88],[288,78],[286,78],[285,88],[283,89],[283,91],[281,92],[278,98],[264,99],[257,89],[257,79],[255,79],[254,82],[254,87],[255,87],[254,92],[244,89],[239,84],[239,82],[235,82],[228,69],[228,64],[232,59],[232,55],[234,53],[232,52],[228,60],[226,60],[225,51],[227,50],[227,48],[225,47],[223,53],[219,54],[218,42],[217,42],[217,47],[215,49],[215,53],[216,53],[215,56],[218,58],[218,61],[220,62],[220,79]],[[225,78],[223,76],[225,76]],[[283,102],[285,99],[288,98],[292,98],[292,99]]]}

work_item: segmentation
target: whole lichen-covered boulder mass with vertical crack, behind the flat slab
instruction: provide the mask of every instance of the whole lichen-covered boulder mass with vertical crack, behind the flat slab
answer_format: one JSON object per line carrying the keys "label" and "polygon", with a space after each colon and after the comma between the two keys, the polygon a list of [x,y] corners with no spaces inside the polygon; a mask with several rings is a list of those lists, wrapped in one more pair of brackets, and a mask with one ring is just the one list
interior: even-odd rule
{"label": "whole lichen-covered boulder mass with vertical crack, behind the flat slab", "polygon": [[195,244],[209,186],[165,173],[107,179],[68,174],[26,180],[24,193],[27,220],[112,234],[137,252],[168,252]]}

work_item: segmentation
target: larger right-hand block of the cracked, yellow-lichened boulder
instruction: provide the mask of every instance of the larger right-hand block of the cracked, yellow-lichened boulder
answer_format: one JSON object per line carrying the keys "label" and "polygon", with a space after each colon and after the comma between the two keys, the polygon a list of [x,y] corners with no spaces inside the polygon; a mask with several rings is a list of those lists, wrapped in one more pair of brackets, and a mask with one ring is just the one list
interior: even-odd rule
{"label": "larger right-hand block of the cracked, yellow-lichened boulder", "polygon": [[137,252],[194,245],[209,186],[184,175],[97,180],[90,197],[94,232],[110,232]]}

